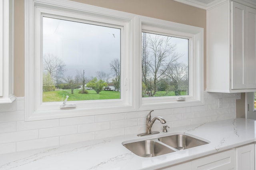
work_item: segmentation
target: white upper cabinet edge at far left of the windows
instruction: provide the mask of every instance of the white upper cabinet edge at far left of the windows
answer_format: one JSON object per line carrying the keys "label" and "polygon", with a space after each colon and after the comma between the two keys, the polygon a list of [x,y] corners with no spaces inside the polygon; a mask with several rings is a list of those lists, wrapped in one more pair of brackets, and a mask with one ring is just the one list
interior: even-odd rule
{"label": "white upper cabinet edge at far left of the windows", "polygon": [[0,1],[0,103],[12,103],[13,0]]}

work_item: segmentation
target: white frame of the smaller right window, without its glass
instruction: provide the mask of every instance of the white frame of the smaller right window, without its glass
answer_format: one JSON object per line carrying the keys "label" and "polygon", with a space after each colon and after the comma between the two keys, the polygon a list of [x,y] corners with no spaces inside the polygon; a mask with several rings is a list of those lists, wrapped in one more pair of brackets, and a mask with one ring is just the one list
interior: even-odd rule
{"label": "white frame of the smaller right window, without its glass", "polygon": [[[168,109],[177,107],[199,106],[204,104],[204,67],[203,67],[203,48],[204,48],[204,29],[155,18],[140,16],[141,32],[186,38],[189,40],[189,95],[168,96],[168,97],[140,97],[139,110]],[[140,36],[140,42],[141,42]],[[140,56],[142,45],[140,43]],[[140,57],[140,65],[141,57]],[[140,73],[142,68],[140,67]],[[140,74],[139,81],[141,82]],[[142,83],[140,83],[139,93],[142,94]],[[185,100],[177,101],[179,97]]]}

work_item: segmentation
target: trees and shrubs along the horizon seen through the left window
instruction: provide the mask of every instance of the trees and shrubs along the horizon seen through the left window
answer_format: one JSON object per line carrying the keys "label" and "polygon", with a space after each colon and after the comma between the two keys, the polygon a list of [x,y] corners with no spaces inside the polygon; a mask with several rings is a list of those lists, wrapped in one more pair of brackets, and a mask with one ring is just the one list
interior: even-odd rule
{"label": "trees and shrubs along the horizon seen through the left window", "polygon": [[114,87],[119,91],[120,89],[120,61],[114,59],[110,62],[110,68],[112,73],[105,73],[104,71],[97,71],[96,77],[85,77],[85,70],[76,71],[75,76],[64,76],[66,71],[66,64],[59,57],[52,54],[45,54],[43,56],[43,92],[54,91],[59,89],[71,89],[71,93],[74,93],[74,89],[78,86],[82,86],[80,93],[88,93],[86,87],[90,87],[100,93],[103,87],[108,83],[113,83]]}

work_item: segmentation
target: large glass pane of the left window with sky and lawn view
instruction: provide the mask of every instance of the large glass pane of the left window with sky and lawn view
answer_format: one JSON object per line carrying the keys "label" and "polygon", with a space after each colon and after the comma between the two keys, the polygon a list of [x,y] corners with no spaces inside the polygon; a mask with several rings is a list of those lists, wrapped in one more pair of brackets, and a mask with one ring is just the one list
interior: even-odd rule
{"label": "large glass pane of the left window with sky and lawn view", "polygon": [[43,17],[43,102],[120,99],[121,30]]}

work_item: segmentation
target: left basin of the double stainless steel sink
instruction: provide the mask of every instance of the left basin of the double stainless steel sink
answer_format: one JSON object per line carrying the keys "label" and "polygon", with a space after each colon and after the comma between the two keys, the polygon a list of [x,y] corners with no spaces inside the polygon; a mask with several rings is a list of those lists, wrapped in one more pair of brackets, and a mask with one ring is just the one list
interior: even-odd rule
{"label": "left basin of the double stainless steel sink", "polygon": [[175,152],[171,148],[168,148],[153,140],[142,140],[139,142],[127,143],[124,144],[124,146],[134,154],[142,157],[154,157]]}

